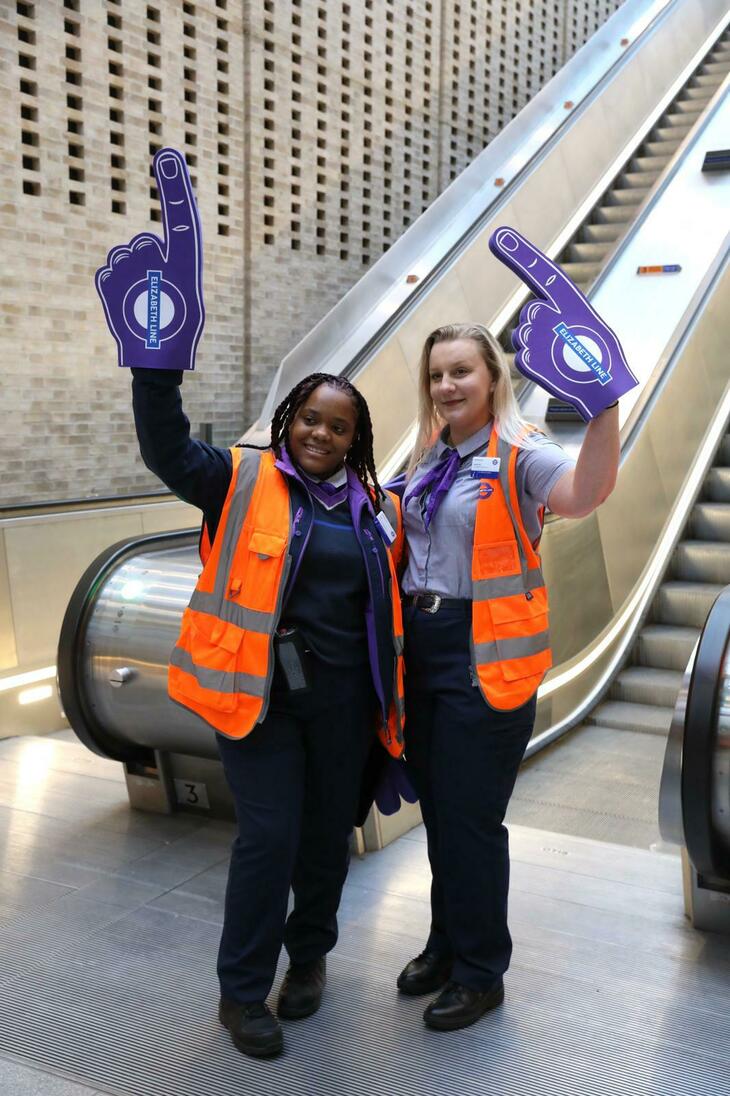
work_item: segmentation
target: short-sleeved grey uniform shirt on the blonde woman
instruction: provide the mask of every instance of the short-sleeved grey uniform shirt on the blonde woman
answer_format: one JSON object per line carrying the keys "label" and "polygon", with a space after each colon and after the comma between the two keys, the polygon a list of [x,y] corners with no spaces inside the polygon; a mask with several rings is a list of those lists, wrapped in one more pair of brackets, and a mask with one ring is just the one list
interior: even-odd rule
{"label": "short-sleeved grey uniform shirt on the blonde woman", "polygon": [[[479,480],[471,476],[471,460],[486,454],[491,432],[489,422],[456,446],[460,457],[456,479],[427,529],[423,524],[424,500],[418,496],[409,500],[403,514],[408,543],[403,593],[427,590],[442,597],[471,597],[471,550],[479,495]],[[417,468],[413,480],[418,483],[419,477],[448,448],[443,436],[440,437]],[[517,496],[532,541],[540,535],[540,507],[560,477],[573,467],[574,461],[564,449],[544,434],[534,435],[533,448],[520,449],[515,469]]]}

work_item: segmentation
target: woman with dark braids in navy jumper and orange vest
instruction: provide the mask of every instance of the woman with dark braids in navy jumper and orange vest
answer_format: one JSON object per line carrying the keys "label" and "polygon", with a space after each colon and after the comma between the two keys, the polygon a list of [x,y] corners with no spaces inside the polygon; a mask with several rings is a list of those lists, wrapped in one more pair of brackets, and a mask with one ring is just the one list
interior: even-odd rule
{"label": "woman with dark braids in navy jumper and orange vest", "polygon": [[182,373],[133,373],[142,459],[204,515],[169,689],[217,731],[236,803],[219,1017],[240,1051],[273,1057],[283,1036],[265,998],[282,945],[278,1017],[309,1016],[376,732],[402,752],[399,504],[377,482],[367,404],[341,377],[301,380],[270,446],[224,449],[190,437]]}

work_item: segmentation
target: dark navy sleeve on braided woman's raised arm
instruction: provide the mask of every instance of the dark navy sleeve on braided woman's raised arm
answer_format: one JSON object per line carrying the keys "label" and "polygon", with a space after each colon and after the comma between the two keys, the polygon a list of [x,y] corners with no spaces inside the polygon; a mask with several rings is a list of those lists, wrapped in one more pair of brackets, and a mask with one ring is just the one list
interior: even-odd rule
{"label": "dark navy sleeve on braided woman's raised arm", "polygon": [[146,466],[183,502],[205,515],[215,536],[232,473],[228,449],[190,436],[175,369],[133,369],[132,393],[139,452]]}

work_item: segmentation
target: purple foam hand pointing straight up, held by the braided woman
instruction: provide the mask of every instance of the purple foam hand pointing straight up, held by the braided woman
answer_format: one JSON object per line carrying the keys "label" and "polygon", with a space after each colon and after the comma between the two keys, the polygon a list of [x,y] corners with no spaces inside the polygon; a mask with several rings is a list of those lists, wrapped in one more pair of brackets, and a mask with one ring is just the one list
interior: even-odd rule
{"label": "purple foam hand pointing straight up, held by the braided woman", "polygon": [[193,369],[205,322],[201,219],[183,156],[162,148],[153,168],[164,238],[142,232],[112,248],[96,292],[119,365]]}

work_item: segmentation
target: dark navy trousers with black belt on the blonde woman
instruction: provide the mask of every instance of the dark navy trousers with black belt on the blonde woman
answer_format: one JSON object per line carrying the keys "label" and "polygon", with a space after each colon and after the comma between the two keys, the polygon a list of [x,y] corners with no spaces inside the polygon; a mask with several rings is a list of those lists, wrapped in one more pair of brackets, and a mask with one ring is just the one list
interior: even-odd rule
{"label": "dark navy trousers with black belt on the blonde woman", "polygon": [[470,605],[434,615],[409,606],[406,754],[426,826],[427,947],[454,958],[453,978],[488,990],[510,964],[509,835],[503,825],[535,722],[535,699],[490,708],[472,684]]}

